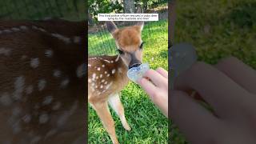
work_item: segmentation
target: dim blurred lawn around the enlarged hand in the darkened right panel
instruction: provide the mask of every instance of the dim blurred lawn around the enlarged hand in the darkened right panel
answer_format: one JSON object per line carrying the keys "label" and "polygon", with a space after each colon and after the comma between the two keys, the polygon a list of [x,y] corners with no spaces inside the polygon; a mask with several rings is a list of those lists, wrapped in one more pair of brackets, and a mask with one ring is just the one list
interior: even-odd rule
{"label": "dim blurred lawn around the enlarged hand in the darkened right panel", "polygon": [[[193,44],[199,61],[215,64],[232,55],[256,69],[254,0],[184,0],[177,4],[174,42]],[[174,125],[171,142],[188,143]]]}

